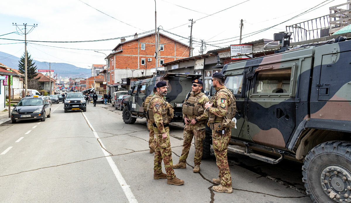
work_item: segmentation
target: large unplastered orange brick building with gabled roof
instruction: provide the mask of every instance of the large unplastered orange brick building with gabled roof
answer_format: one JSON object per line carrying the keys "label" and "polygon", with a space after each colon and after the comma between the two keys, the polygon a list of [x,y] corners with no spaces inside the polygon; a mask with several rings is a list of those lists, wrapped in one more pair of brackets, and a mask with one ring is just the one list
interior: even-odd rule
{"label": "large unplastered orange brick building with gabled roof", "polygon": [[155,64],[155,33],[142,37],[138,37],[135,33],[134,39],[128,41],[121,39],[121,42],[113,48],[113,52],[107,56],[108,86],[119,83],[122,78],[150,75],[150,68],[160,67],[167,61],[188,57],[188,45],[161,33],[158,41],[160,51],[158,64]]}

